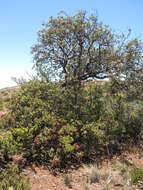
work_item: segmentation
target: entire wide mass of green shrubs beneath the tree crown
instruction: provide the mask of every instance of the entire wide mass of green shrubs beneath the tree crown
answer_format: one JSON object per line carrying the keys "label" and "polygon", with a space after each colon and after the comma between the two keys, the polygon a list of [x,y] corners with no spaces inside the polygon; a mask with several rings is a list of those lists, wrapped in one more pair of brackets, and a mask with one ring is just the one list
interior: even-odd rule
{"label": "entire wide mass of green shrubs beneath the tree crown", "polygon": [[23,151],[29,162],[51,167],[80,163],[111,142],[116,146],[139,136],[143,104],[129,101],[121,86],[89,82],[75,94],[74,88],[56,82],[25,83],[3,125],[10,128],[16,150]]}

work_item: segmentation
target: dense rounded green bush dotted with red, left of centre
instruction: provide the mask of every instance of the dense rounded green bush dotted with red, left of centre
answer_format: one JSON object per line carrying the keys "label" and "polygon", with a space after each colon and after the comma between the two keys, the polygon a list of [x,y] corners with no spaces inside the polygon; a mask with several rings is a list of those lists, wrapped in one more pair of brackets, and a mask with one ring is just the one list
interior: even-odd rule
{"label": "dense rounded green bush dotted with red, left of centre", "polygon": [[[82,96],[83,93],[87,94],[87,90],[81,89],[74,107],[72,89],[62,90],[57,84],[39,81],[22,87],[12,103],[13,119],[9,123],[17,149],[25,150],[30,162],[51,162],[53,167],[81,162],[83,157],[90,156],[90,149],[101,143],[102,129],[99,130],[99,123],[91,122],[97,118],[90,117],[88,111],[93,112],[93,108],[89,107],[90,98]],[[98,107],[99,110],[98,102],[94,109]],[[80,112],[76,114],[79,108]]]}

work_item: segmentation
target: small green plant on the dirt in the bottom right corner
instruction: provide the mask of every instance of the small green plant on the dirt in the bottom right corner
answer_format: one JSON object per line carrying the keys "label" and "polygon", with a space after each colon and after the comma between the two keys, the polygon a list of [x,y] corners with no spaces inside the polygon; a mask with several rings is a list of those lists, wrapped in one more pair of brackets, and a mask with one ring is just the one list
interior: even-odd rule
{"label": "small green plant on the dirt in the bottom right corner", "polygon": [[139,181],[143,181],[143,169],[134,168],[130,171],[131,183],[137,184]]}

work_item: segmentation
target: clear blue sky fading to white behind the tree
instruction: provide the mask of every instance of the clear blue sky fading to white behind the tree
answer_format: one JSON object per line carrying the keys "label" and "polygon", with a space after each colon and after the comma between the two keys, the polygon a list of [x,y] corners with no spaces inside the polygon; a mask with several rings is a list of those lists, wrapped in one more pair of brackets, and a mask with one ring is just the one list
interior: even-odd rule
{"label": "clear blue sky fading to white behind the tree", "polygon": [[104,24],[116,31],[132,29],[143,40],[143,0],[1,0],[0,88],[14,85],[11,77],[25,76],[33,65],[31,46],[43,21],[61,10],[96,11]]}

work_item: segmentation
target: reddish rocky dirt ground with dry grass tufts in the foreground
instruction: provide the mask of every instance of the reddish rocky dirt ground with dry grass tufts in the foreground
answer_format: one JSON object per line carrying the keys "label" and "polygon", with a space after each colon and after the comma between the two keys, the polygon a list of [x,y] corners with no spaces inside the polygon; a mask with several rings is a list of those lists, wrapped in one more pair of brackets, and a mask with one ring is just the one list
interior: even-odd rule
{"label": "reddish rocky dirt ground with dry grass tufts in the foreground", "polygon": [[44,167],[28,167],[24,173],[30,178],[31,190],[141,190],[143,183],[131,185],[130,170],[143,168],[143,157],[138,153],[124,153],[96,164],[53,175]]}

